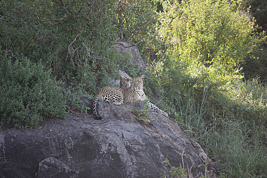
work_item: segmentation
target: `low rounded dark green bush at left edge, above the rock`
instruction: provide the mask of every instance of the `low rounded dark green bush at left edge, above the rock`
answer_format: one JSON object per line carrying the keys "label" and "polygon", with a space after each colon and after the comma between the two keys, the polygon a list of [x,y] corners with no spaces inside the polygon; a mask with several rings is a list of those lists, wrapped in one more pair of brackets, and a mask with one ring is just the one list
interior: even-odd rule
{"label": "low rounded dark green bush at left edge, above the rock", "polygon": [[4,127],[37,128],[44,118],[65,117],[61,82],[28,58],[0,61],[0,123]]}

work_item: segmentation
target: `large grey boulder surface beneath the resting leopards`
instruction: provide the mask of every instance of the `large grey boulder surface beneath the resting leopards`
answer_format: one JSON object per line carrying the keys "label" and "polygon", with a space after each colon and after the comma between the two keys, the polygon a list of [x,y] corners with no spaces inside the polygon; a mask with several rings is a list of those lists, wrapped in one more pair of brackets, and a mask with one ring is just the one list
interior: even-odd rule
{"label": "large grey boulder surface beneath the resting leopards", "polygon": [[162,177],[170,168],[165,158],[204,174],[198,167],[204,153],[194,140],[158,113],[151,112],[154,121],[145,125],[132,106],[143,108],[98,102],[101,121],[69,115],[36,130],[0,132],[0,177]]}

